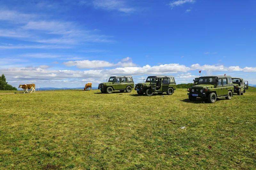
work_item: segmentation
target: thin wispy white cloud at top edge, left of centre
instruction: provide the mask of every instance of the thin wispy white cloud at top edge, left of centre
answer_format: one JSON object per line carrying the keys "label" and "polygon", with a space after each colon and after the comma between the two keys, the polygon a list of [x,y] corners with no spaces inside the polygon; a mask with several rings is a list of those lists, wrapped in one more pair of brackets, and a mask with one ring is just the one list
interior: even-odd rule
{"label": "thin wispy white cloud at top edge, left of centre", "polygon": [[124,13],[131,13],[135,11],[134,8],[127,6],[122,0],[93,0],[92,4],[95,8],[101,8],[103,10],[117,10]]}

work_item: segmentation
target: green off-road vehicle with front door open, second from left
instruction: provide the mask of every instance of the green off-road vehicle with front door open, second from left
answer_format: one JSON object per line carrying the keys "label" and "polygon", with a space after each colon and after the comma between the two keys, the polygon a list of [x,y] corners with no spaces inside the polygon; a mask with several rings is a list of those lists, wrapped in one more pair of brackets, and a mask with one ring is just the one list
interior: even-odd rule
{"label": "green off-road vehicle with front door open, second from left", "polygon": [[138,83],[134,88],[139,95],[152,96],[153,93],[163,94],[166,92],[172,95],[176,89],[176,82],[173,76],[148,76],[146,82]]}

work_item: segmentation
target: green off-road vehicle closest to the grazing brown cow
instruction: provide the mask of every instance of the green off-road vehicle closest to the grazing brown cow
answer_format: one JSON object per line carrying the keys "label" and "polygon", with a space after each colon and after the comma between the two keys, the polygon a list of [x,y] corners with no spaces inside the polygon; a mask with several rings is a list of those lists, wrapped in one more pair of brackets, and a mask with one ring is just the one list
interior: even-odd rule
{"label": "green off-road vehicle closest to the grazing brown cow", "polygon": [[120,92],[132,92],[132,88],[134,88],[132,76],[110,77],[108,82],[100,83],[98,87],[100,92],[109,94],[114,90],[119,90]]}

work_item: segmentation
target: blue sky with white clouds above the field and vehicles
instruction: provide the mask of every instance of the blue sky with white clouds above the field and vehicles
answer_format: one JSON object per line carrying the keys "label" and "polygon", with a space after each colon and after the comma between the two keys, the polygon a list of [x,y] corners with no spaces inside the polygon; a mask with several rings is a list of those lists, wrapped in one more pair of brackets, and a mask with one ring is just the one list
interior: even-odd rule
{"label": "blue sky with white clouds above the field and vehicles", "polygon": [[0,1],[0,73],[14,86],[112,75],[227,74],[256,84],[256,2]]}

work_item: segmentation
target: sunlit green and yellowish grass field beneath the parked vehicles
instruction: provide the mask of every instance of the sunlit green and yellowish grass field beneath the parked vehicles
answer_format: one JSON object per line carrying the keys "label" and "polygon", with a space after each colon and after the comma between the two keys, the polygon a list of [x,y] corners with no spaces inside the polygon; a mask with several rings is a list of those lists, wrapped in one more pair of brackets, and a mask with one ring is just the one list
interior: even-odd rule
{"label": "sunlit green and yellowish grass field beneath the parked vehicles", "polygon": [[2,91],[0,168],[255,169],[255,101],[251,87],[214,104],[189,102],[185,89]]}

